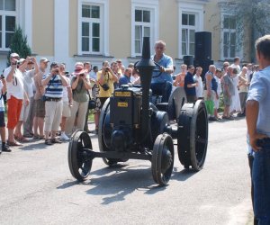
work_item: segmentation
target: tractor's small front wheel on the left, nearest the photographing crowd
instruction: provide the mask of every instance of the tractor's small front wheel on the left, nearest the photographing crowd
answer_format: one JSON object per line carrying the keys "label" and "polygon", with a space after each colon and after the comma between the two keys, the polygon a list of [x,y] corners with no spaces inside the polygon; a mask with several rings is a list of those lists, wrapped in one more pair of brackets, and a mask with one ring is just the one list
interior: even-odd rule
{"label": "tractor's small front wheel on the left, nearest the photographing crowd", "polygon": [[85,131],[76,130],[68,146],[68,166],[78,181],[85,181],[92,167],[93,159],[87,157],[85,148],[92,149],[91,139]]}

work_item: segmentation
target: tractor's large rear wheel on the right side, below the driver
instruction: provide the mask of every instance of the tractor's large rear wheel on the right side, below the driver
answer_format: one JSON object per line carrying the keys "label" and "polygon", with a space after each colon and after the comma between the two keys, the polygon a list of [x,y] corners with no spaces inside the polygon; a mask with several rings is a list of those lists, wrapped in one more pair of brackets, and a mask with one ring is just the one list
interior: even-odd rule
{"label": "tractor's large rear wheel on the right side, below the driver", "polygon": [[202,100],[185,103],[178,120],[178,157],[184,168],[202,169],[207,153],[208,117]]}

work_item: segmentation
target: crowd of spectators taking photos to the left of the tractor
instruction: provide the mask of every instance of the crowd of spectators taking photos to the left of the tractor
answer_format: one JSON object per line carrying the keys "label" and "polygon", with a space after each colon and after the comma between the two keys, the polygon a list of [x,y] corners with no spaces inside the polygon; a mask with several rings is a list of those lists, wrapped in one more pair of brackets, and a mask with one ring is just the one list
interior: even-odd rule
{"label": "crowd of spectators taking photos to the left of the tractor", "polygon": [[[40,58],[38,63],[34,57],[12,53],[10,67],[0,78],[0,153],[30,139],[44,139],[46,145],[61,143],[76,129],[97,133],[103,103],[113,90],[139,83],[134,65],[125,68],[120,59],[111,64],[104,61],[100,70],[90,62],[77,62],[74,72],[68,73],[65,63],[50,63],[48,58]],[[90,109],[95,130],[88,129]]]}

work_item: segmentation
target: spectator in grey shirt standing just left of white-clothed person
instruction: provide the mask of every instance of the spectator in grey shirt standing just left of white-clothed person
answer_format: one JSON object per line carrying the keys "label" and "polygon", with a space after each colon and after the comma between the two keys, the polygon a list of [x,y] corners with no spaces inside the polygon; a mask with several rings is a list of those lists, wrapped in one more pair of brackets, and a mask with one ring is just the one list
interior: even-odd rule
{"label": "spectator in grey shirt standing just left of white-clothed person", "polygon": [[231,96],[234,95],[234,86],[231,79],[233,67],[228,67],[227,73],[222,77],[222,85],[223,85],[223,101],[224,101],[224,112],[222,119],[225,120],[233,120],[233,118],[229,115],[229,106],[231,104]]}

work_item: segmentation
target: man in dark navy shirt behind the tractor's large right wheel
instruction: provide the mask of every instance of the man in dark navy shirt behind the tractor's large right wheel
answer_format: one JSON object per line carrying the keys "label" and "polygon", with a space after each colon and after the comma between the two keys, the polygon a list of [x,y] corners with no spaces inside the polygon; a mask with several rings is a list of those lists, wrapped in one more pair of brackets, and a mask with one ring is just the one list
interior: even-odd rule
{"label": "man in dark navy shirt behind the tractor's large right wheel", "polygon": [[184,76],[184,91],[188,103],[194,103],[197,100],[196,86],[198,83],[193,79],[194,69],[193,65],[188,66],[186,76]]}

